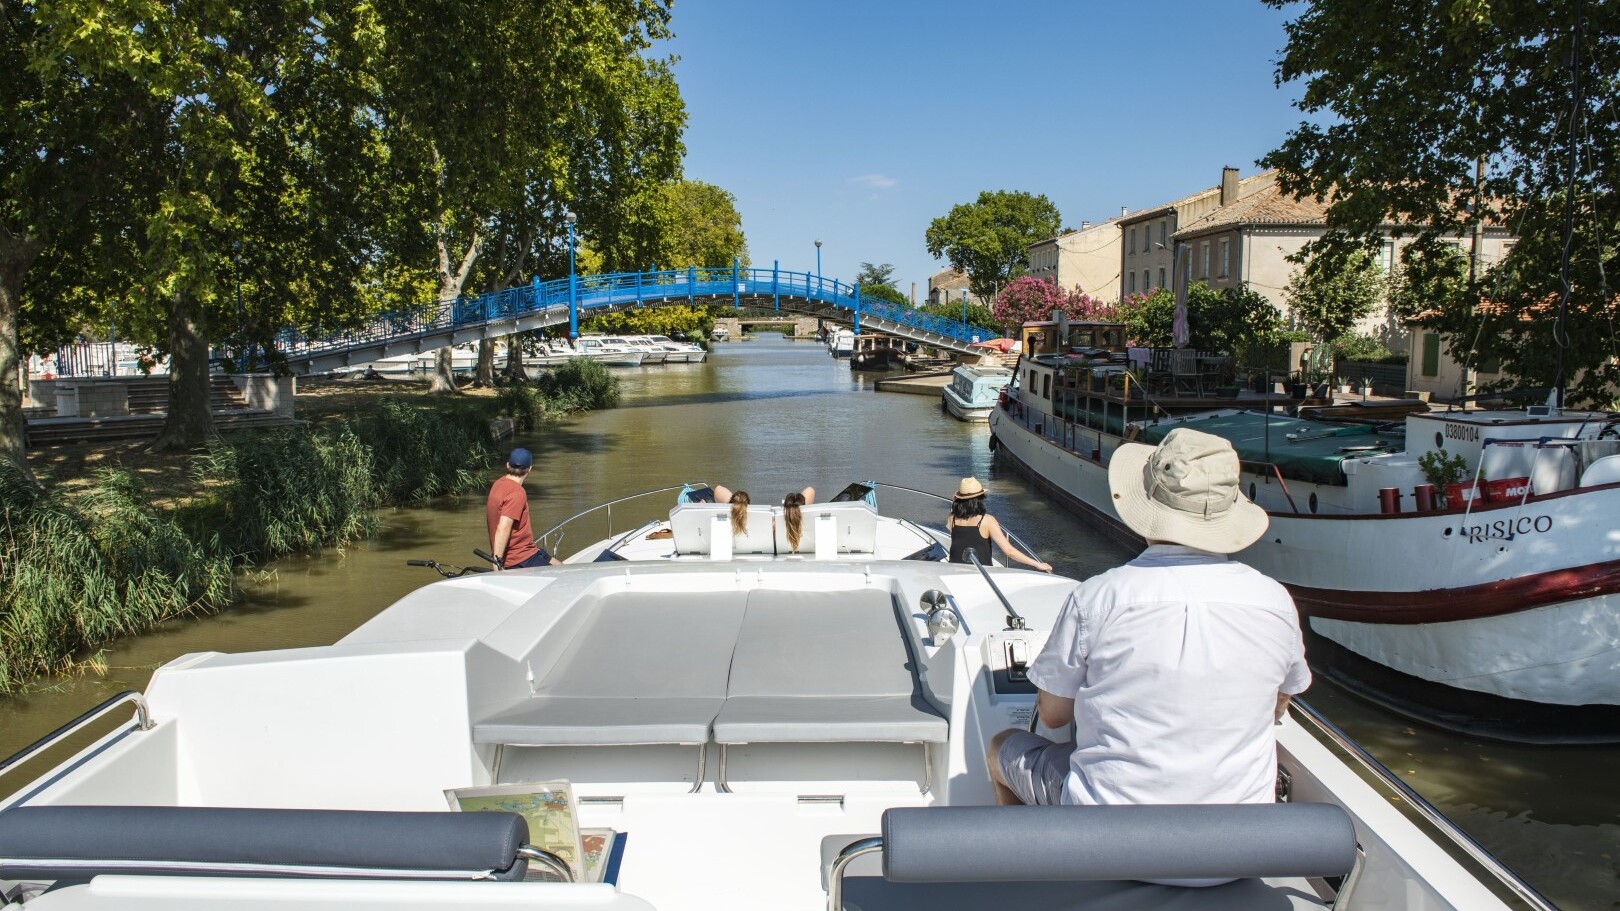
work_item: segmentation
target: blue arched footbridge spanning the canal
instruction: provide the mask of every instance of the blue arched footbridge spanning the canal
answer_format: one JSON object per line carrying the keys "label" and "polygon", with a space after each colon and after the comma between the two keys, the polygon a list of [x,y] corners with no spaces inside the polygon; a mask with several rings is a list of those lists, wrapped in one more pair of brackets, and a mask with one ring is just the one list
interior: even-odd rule
{"label": "blue arched footbridge spanning the canal", "polygon": [[974,342],[990,336],[978,326],[863,298],[859,285],[813,272],[732,266],[575,276],[549,282],[536,277],[525,287],[387,311],[355,329],[324,334],[287,329],[277,334],[275,342],[277,352],[296,373],[322,373],[548,326],[569,324],[575,329],[582,318],[595,313],[672,303],[820,316],[854,326],[857,334],[870,329],[953,352],[969,352]]}

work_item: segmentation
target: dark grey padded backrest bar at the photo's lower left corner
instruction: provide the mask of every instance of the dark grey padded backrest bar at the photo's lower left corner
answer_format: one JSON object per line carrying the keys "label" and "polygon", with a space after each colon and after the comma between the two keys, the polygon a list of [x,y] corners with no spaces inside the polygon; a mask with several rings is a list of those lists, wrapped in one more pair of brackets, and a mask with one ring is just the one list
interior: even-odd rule
{"label": "dark grey padded backrest bar at the photo's lower left corner", "polygon": [[522,879],[517,814],[13,807],[0,880],[102,874]]}

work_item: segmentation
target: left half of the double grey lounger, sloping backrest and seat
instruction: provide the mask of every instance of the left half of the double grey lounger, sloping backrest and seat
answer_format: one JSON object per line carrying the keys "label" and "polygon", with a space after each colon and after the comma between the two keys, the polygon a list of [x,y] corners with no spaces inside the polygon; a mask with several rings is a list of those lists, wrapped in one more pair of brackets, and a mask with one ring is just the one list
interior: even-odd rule
{"label": "left half of the double grey lounger, sloping backrest and seat", "polygon": [[514,746],[701,744],[726,699],[747,595],[608,595],[535,695],[473,725]]}

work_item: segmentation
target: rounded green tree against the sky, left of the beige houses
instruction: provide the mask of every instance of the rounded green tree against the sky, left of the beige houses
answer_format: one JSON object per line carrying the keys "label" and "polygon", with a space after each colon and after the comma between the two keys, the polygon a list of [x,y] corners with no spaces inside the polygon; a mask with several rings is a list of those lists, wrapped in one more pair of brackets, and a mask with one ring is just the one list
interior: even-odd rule
{"label": "rounded green tree against the sky, left of the beige houses", "polygon": [[953,206],[925,232],[928,253],[967,274],[974,297],[993,300],[1001,285],[1024,274],[1029,245],[1055,237],[1063,216],[1051,199],[1022,191],[983,191]]}

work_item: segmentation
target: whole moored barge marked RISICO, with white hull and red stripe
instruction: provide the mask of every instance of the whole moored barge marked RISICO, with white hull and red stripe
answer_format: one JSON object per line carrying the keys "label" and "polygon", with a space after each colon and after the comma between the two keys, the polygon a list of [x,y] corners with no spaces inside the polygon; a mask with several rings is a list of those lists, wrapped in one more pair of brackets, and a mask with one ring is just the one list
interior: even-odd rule
{"label": "whole moored barge marked RISICO, with white hull and red stripe", "polygon": [[[1272,519],[1236,558],[1288,585],[1314,665],[1443,726],[1620,739],[1620,415],[1537,405],[1392,420],[1369,404],[1341,408],[1369,415],[1353,423],[1307,420],[1259,396],[1212,408],[1196,370],[1144,391],[1118,352],[1025,339],[1030,350],[991,434],[1064,506],[1131,538],[1108,493],[1115,447],[1174,426],[1223,436]],[[1435,457],[1460,460],[1464,480],[1427,483],[1419,459]]]}

